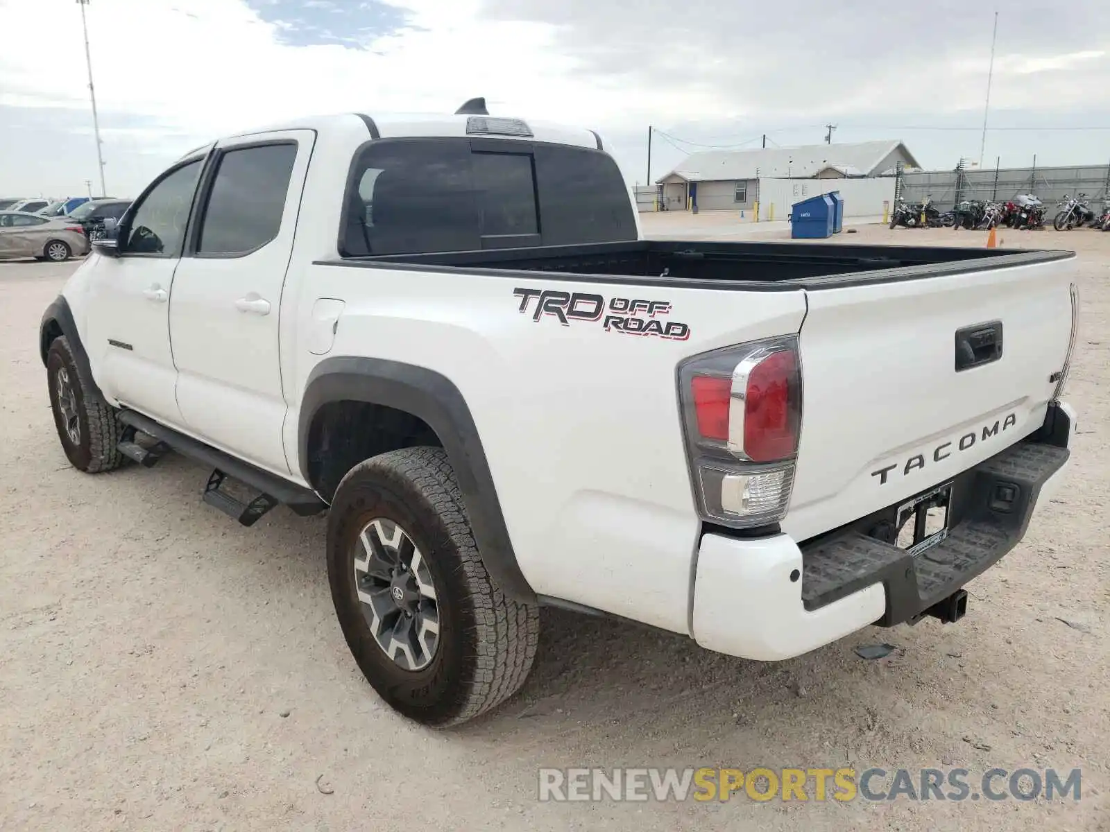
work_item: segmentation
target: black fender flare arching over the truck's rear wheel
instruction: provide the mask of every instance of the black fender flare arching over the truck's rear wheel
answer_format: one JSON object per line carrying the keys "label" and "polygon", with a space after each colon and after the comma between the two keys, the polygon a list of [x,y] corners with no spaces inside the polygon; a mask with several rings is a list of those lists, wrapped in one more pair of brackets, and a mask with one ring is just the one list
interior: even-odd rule
{"label": "black fender flare arching over the truck's rear wheel", "polygon": [[455,469],[482,562],[508,598],[536,602],[516,561],[493,475],[466,399],[444,375],[384,358],[325,358],[309,375],[297,425],[301,475],[309,477],[309,435],[320,408],[330,402],[365,402],[411,413],[435,430]]}

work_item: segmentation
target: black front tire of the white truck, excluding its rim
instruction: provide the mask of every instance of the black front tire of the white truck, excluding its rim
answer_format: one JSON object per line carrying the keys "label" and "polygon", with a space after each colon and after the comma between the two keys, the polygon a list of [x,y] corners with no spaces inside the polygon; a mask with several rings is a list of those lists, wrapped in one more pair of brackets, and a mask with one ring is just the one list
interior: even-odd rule
{"label": "black front tire of the white truck, excluding its rim", "polygon": [[[65,430],[64,417],[59,402],[58,374],[64,369],[77,405],[77,422],[80,438],[72,442]],[[53,339],[47,353],[47,387],[50,390],[50,409],[54,414],[58,439],[70,464],[85,474],[113,470],[123,464],[123,455],[117,446],[122,426],[118,410],[102,400],[92,388],[73,358],[69,339],[62,335]]]}

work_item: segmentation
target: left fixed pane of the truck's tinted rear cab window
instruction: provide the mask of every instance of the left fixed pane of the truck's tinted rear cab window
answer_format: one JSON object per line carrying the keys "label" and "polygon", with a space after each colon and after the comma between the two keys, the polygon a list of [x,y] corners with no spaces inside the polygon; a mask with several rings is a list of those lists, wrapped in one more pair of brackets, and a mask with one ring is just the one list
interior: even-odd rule
{"label": "left fixed pane of the truck's tinted rear cab window", "polygon": [[482,247],[467,141],[369,144],[355,162],[345,207],[344,256]]}

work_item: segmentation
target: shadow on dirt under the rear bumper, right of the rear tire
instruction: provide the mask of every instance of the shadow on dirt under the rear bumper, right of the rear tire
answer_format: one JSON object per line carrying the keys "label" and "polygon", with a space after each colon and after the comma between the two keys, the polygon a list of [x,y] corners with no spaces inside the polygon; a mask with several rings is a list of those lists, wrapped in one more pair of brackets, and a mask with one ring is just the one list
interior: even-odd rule
{"label": "shadow on dirt under the rear bumper, right of the rear tire", "polygon": [[916,687],[902,648],[872,662],[851,649],[905,643],[901,630],[895,636],[869,628],[806,656],[759,662],[625,621],[557,609],[542,610],[541,619],[527,682],[500,709],[457,729],[460,735],[495,741],[517,731],[599,732],[619,745],[663,732],[679,744],[700,737],[712,749],[737,732],[770,731],[817,742],[833,731],[856,737],[874,730],[882,699],[901,699],[908,692],[899,692],[902,684]]}

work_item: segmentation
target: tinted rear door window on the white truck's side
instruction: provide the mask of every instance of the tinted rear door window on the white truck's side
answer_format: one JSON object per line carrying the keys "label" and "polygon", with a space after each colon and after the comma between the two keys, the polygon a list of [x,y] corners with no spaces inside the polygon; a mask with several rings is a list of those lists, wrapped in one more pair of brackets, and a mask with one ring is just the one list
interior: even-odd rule
{"label": "tinted rear door window on the white truck's side", "polygon": [[202,214],[198,254],[245,254],[276,237],[295,161],[296,144],[223,153]]}

